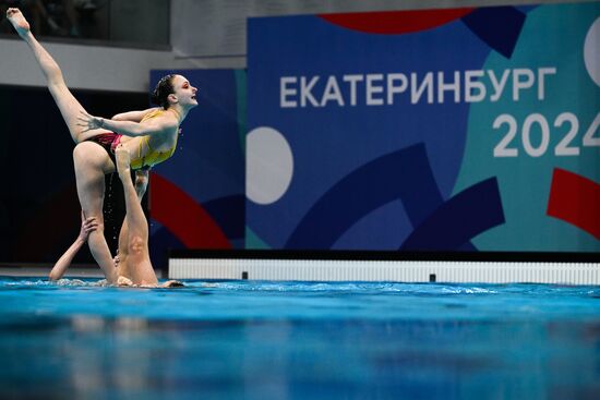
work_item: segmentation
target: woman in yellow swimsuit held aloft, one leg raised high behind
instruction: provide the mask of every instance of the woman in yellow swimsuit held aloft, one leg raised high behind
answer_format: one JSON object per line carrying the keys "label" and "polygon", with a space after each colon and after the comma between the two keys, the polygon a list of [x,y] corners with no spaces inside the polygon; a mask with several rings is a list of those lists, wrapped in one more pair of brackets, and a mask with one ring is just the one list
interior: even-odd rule
{"label": "woman in yellow swimsuit held aloft, one leg raised high behind", "polygon": [[[118,276],[104,237],[103,204],[104,175],[116,170],[115,161],[110,157],[110,149],[113,150],[116,145],[112,146],[115,143],[110,142],[104,146],[94,138],[105,135],[106,140],[106,134],[119,137],[118,143],[129,151],[135,167],[160,162],[172,155],[179,125],[188,112],[197,106],[197,89],[181,75],[168,75],[160,80],[153,94],[153,100],[159,108],[124,112],[112,119],[91,116],[71,94],[59,65],[36,40],[21,11],[9,9],[7,19],[32,49],[46,77],[48,89],[76,144],[73,161],[77,195],[85,218],[93,217],[97,222],[96,229],[89,232],[87,243],[106,279],[113,283]],[[105,150],[107,147],[109,150]]]}

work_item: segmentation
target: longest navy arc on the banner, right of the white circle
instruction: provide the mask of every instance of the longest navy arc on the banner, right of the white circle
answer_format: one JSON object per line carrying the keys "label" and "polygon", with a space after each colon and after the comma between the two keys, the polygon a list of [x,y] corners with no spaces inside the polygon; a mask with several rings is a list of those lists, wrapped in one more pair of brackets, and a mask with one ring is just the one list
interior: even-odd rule
{"label": "longest navy arc on the banner, right of the white circle", "polygon": [[[383,183],[381,177],[391,171],[397,171],[396,181]],[[370,161],[341,179],[301,219],[285,249],[331,249],[362,216],[398,198],[412,226],[420,226],[443,203],[421,143]]]}

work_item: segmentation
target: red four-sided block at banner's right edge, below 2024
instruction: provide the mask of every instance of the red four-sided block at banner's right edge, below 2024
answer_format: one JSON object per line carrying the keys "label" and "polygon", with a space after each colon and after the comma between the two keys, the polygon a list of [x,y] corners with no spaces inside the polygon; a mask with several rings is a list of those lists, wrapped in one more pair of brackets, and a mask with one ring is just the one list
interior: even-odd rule
{"label": "red four-sided block at banner's right edge, below 2024", "polygon": [[555,168],[547,214],[572,223],[600,240],[600,184]]}

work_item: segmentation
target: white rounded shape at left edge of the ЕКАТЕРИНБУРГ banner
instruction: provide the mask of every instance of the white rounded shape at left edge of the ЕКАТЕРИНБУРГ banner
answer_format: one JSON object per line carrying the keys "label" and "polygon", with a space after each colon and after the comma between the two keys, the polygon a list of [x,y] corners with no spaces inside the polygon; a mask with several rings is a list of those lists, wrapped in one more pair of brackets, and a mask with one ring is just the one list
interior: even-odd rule
{"label": "white rounded shape at left edge of the \u0415\u041a\u0410\u0422\u0415\u0420\u0418\u041d\u0411\u0423\u0420\u0413 banner", "polygon": [[293,157],[284,135],[268,126],[252,130],[245,138],[247,197],[262,205],[275,203],[292,174]]}

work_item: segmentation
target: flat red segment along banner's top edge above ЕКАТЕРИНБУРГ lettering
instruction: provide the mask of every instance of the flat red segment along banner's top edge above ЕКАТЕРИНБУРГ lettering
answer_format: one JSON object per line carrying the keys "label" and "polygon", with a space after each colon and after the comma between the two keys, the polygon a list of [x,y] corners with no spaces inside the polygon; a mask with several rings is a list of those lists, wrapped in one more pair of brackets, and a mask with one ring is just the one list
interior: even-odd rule
{"label": "flat red segment along banner's top edge above \u0415\u041a\u0410\u0422\u0415\u0420\u0418\u041d\u0411\u0423\u0420\u0413 lettering", "polygon": [[475,8],[320,14],[334,25],[368,34],[397,35],[431,29],[467,15]]}

